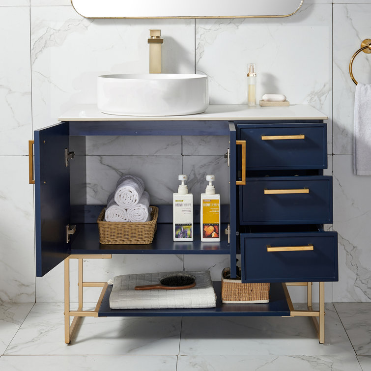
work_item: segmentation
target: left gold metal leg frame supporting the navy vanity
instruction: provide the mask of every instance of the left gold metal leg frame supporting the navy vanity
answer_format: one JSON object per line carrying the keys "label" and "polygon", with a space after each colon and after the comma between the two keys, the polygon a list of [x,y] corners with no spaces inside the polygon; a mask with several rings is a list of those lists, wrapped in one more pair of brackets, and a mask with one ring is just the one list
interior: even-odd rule
{"label": "left gold metal leg frame supporting the navy vanity", "polygon": [[[111,254],[105,255],[70,255],[64,260],[64,342],[71,342],[72,334],[80,317],[98,317],[98,311],[102,304],[104,294],[107,289],[107,282],[84,282],[83,280],[83,263],[84,259],[111,259]],[[79,288],[79,303],[77,311],[70,310],[70,259],[78,259],[78,288]],[[84,287],[102,287],[99,299],[94,311],[84,311]],[[70,324],[70,317],[73,317]]]}

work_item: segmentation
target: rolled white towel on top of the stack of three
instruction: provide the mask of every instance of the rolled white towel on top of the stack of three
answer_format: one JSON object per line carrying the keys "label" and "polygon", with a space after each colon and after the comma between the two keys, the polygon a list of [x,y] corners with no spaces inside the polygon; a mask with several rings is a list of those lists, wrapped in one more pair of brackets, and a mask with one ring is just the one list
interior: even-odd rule
{"label": "rolled white towel on top of the stack of three", "polygon": [[135,175],[123,175],[118,179],[114,200],[117,205],[127,209],[135,206],[144,192],[144,182]]}

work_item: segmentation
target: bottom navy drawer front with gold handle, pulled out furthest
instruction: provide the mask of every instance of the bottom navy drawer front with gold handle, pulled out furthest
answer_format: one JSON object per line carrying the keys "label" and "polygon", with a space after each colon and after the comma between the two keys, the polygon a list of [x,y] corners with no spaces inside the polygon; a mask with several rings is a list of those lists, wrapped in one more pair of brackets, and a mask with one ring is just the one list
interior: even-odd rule
{"label": "bottom navy drawer front with gold handle, pulled out furthest", "polygon": [[338,281],[337,233],[242,233],[241,261],[245,283]]}

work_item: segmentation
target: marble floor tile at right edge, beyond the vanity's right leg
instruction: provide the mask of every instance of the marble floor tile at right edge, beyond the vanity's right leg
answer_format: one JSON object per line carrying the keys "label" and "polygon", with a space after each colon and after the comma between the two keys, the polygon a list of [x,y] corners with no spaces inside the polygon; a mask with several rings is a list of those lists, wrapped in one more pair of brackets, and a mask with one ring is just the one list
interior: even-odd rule
{"label": "marble floor tile at right edge, beyond the vanity's right leg", "polygon": [[371,303],[334,305],[356,354],[371,356]]}

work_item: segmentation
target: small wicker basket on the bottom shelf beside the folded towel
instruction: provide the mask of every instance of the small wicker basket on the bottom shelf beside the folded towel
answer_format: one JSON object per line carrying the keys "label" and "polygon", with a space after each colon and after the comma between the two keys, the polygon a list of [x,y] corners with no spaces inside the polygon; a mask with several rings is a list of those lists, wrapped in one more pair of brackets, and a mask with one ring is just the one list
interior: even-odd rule
{"label": "small wicker basket on the bottom shelf beside the folded towel", "polygon": [[222,272],[222,302],[225,304],[268,303],[269,283],[243,284],[241,280],[227,279],[230,269]]}

